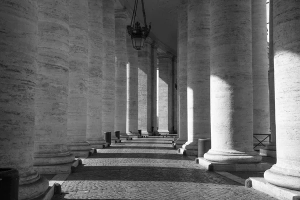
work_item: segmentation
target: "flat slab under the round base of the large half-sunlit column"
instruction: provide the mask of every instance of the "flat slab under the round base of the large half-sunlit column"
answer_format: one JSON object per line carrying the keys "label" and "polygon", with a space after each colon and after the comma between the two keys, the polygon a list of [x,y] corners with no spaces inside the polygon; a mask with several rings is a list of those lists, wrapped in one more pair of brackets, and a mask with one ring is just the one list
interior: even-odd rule
{"label": "flat slab under the round base of the large half-sunlit column", "polygon": [[265,171],[269,169],[272,164],[268,162],[258,162],[258,163],[221,163],[221,162],[211,162],[203,157],[197,157],[195,159],[196,163],[206,168],[208,171]]}

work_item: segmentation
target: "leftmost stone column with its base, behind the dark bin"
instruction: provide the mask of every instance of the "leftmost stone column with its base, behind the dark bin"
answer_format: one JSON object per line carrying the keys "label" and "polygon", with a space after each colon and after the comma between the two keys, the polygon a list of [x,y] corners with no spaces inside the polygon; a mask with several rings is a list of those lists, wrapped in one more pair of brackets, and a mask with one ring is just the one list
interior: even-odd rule
{"label": "leftmost stone column with its base, behind the dark bin", "polygon": [[48,188],[33,170],[37,18],[35,0],[0,1],[0,160],[18,170],[20,200]]}

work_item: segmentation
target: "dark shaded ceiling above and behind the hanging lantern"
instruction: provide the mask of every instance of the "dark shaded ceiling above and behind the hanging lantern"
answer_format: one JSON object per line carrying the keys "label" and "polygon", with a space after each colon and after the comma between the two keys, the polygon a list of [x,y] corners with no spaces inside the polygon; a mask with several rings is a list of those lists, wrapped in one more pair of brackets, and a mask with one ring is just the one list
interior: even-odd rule
{"label": "dark shaded ceiling above and behind the hanging lantern", "polygon": [[[135,0],[116,0],[132,13]],[[151,22],[150,37],[157,38],[171,52],[177,52],[177,9],[180,0],[144,0],[147,24]],[[141,0],[138,0],[138,21],[143,24]],[[131,15],[132,16],[132,15]],[[130,16],[130,17],[131,17]]]}

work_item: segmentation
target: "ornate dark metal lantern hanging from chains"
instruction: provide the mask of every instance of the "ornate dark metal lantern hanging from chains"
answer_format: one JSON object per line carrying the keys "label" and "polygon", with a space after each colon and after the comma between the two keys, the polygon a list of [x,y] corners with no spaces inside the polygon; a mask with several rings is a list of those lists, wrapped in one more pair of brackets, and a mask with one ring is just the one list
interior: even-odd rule
{"label": "ornate dark metal lantern hanging from chains", "polygon": [[135,0],[131,22],[130,25],[127,25],[127,30],[129,35],[131,36],[133,48],[135,48],[136,50],[140,50],[144,47],[146,37],[149,35],[151,29],[151,23],[149,24],[148,27],[146,22],[146,14],[145,14],[143,0],[141,0],[141,5],[142,5],[142,14],[144,19],[144,26],[141,27],[138,21],[135,22],[137,2],[138,0]]}

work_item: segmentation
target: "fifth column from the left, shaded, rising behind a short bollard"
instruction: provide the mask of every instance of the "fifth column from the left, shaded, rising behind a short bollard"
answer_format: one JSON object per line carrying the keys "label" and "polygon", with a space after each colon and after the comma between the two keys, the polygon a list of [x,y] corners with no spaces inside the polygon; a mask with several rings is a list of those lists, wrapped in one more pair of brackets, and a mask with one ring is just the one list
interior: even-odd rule
{"label": "fifth column from the left, shaded, rising behind a short bollard", "polygon": [[[124,24],[125,25],[125,24]],[[115,106],[114,0],[103,0],[102,132],[114,132]],[[111,134],[111,140],[117,137]]]}

